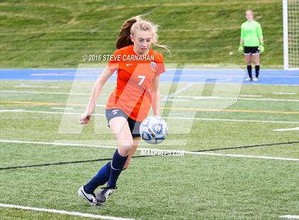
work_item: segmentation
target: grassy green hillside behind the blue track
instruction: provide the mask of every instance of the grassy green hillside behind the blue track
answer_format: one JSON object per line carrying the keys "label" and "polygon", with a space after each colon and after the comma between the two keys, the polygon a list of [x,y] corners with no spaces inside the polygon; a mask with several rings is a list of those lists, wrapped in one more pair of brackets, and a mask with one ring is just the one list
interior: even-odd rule
{"label": "grassy green hillside behind the blue track", "polygon": [[[77,67],[83,55],[110,54],[125,19],[152,11],[165,62],[236,63],[239,27],[252,9],[266,39],[263,66],[283,64],[280,0],[0,1],[1,68]],[[229,55],[234,52],[233,55]]]}

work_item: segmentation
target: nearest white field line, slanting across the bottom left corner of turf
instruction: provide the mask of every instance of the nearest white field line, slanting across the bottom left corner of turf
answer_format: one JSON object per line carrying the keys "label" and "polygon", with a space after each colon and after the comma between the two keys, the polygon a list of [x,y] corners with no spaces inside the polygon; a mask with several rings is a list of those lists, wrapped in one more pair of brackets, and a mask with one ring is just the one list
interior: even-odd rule
{"label": "nearest white field line, slanting across the bottom left corner of turf", "polygon": [[125,218],[114,217],[114,216],[102,216],[98,214],[88,214],[83,212],[77,211],[65,211],[65,210],[58,210],[58,209],[44,209],[44,208],[36,208],[36,207],[23,207],[16,204],[2,204],[0,203],[0,207],[11,208],[11,209],[23,209],[29,211],[43,211],[43,212],[50,212],[55,214],[65,214],[69,216],[80,216],[92,219],[107,219],[107,220],[128,220]]}

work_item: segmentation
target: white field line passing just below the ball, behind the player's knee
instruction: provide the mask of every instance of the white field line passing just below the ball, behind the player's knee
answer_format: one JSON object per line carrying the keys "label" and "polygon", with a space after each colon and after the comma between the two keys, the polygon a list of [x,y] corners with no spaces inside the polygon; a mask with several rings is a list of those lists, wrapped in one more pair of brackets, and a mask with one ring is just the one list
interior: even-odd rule
{"label": "white field line passing just below the ball, behind the player's knee", "polygon": [[[51,142],[38,142],[38,141],[17,141],[17,140],[1,140],[3,143],[32,143],[32,144],[43,144],[43,145],[66,145],[66,146],[77,146],[77,147],[90,147],[90,148],[117,148],[116,146],[107,145],[90,145],[90,144],[77,144],[77,143],[51,143]],[[137,150],[154,150],[154,148],[137,148]],[[163,149],[167,151],[167,149]],[[171,150],[169,150],[171,151]],[[181,150],[186,154],[192,155],[211,155],[211,156],[221,156],[221,157],[233,157],[233,158],[257,158],[257,159],[267,159],[267,160],[290,160],[299,161],[298,158],[278,158],[278,157],[268,157],[268,156],[256,156],[256,155],[240,155],[240,154],[223,154],[223,153],[205,153],[205,152],[193,152]]]}

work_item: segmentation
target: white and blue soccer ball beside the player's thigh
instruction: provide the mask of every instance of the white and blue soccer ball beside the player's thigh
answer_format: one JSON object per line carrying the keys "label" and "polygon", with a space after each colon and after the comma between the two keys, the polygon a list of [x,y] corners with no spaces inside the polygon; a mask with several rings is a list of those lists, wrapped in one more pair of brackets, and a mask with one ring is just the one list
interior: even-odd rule
{"label": "white and blue soccer ball beside the player's thigh", "polygon": [[167,123],[158,116],[149,116],[140,125],[140,136],[152,144],[161,143],[167,136]]}

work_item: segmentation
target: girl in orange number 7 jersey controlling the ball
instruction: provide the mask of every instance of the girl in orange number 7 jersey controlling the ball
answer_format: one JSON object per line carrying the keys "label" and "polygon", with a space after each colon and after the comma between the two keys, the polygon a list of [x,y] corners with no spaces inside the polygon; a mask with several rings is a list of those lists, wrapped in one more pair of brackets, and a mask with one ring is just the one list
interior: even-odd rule
{"label": "girl in orange number 7 jersey controlling the ball", "polygon": [[[90,182],[78,190],[79,197],[91,205],[103,205],[116,188],[117,178],[125,170],[140,143],[140,123],[152,106],[159,116],[159,75],[164,70],[163,57],[152,50],[157,44],[157,26],[142,20],[140,16],[125,21],[117,39],[117,50],[107,67],[96,80],[81,124],[88,124],[95,104],[107,79],[117,70],[117,84],[106,105],[106,118],[117,139],[117,150],[112,161],[104,165]],[[95,197],[94,191],[105,185]]]}

